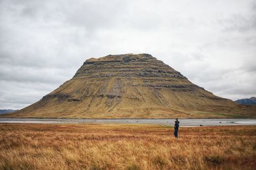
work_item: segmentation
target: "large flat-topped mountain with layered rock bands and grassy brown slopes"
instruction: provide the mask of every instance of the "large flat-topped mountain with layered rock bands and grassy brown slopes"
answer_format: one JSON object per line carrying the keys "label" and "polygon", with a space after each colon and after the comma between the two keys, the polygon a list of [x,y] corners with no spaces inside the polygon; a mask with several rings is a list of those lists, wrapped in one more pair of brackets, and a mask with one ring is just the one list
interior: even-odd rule
{"label": "large flat-topped mountain with layered rock bands and grassy brown slopes", "polygon": [[256,107],[214,96],[152,55],[128,53],[86,60],[71,80],[6,117],[255,117],[255,113]]}

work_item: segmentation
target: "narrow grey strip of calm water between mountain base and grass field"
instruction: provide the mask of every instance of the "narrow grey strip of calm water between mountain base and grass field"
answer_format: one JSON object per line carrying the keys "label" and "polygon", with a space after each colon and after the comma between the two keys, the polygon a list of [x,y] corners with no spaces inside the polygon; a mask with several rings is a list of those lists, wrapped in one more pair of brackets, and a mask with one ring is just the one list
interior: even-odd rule
{"label": "narrow grey strip of calm water between mountain base and grass field", "polygon": [[[256,118],[202,118],[179,119],[180,126],[211,126],[211,125],[256,125]],[[42,119],[42,118],[0,118],[0,123],[21,124],[158,124],[173,125],[174,119]]]}

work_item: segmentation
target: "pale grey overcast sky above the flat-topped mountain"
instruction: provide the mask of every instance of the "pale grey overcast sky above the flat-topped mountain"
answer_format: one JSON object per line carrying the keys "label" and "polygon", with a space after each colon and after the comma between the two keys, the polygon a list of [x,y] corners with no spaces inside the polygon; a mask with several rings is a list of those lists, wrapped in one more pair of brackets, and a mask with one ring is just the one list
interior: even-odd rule
{"label": "pale grey overcast sky above the flat-topped mountain", "polygon": [[256,96],[255,0],[0,0],[0,109],[121,53],[150,53],[220,97]]}

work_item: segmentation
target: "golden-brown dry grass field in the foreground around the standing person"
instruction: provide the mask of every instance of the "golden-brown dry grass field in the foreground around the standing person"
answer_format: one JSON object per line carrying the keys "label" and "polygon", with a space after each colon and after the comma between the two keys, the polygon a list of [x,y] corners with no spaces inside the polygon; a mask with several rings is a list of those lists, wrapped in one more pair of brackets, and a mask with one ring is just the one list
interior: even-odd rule
{"label": "golden-brown dry grass field in the foreground around the standing person", "polygon": [[0,124],[0,169],[255,169],[256,127]]}

